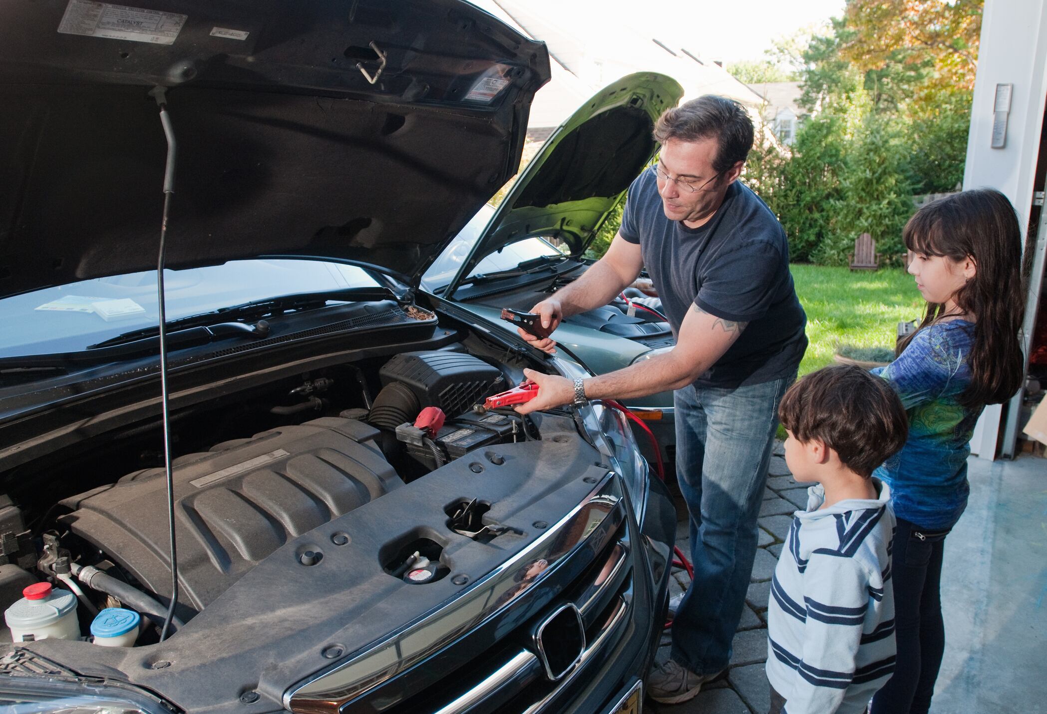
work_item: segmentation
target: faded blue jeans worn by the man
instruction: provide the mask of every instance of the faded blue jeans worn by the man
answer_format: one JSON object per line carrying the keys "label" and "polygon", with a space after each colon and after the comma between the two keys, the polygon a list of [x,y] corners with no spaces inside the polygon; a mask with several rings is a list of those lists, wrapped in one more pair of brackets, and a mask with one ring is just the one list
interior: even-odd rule
{"label": "faded blue jeans worn by the man", "polygon": [[692,672],[728,665],[756,557],[756,518],[795,377],[736,389],[677,389],[676,478],[691,515],[694,580],[672,623],[672,659]]}

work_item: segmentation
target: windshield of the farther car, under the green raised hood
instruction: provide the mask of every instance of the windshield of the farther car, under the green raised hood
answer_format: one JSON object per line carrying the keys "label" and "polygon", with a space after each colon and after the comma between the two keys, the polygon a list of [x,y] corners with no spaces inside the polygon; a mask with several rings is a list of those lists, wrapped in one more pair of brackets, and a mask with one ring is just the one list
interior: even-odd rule
{"label": "windshield of the farther car, under the green raised hood", "polygon": [[[462,263],[469,256],[469,251],[480,240],[481,235],[487,227],[494,215],[494,208],[484,205],[475,216],[473,216],[465,227],[454,237],[440,256],[432,262],[429,269],[422,275],[422,287],[429,292],[437,292],[446,287],[454,273],[462,267]],[[467,277],[482,273],[499,272],[502,270],[512,270],[525,261],[533,261],[542,255],[562,255],[562,251],[557,249],[552,243],[541,238],[525,238],[522,241],[511,243],[500,250],[496,250],[487,255]]]}

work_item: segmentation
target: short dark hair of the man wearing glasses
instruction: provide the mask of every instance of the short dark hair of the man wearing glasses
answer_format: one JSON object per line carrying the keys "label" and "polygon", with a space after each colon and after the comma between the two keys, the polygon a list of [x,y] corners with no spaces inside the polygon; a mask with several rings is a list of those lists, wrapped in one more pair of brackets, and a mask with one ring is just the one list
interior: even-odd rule
{"label": "short dark hair of the man wearing glasses", "polygon": [[713,170],[722,174],[744,161],[753,148],[753,119],[739,102],[716,94],[704,94],[662,112],[654,124],[654,140],[697,141],[716,137]]}

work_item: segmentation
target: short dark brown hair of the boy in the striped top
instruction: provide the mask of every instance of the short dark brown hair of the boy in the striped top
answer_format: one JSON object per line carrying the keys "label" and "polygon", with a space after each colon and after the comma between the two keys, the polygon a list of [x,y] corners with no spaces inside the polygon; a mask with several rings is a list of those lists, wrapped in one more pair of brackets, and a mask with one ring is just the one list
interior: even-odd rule
{"label": "short dark brown hair of the boy in the striped top", "polygon": [[887,380],[850,364],[812,372],[789,387],[778,407],[782,426],[800,442],[823,442],[851,471],[868,478],[905,446],[909,418]]}

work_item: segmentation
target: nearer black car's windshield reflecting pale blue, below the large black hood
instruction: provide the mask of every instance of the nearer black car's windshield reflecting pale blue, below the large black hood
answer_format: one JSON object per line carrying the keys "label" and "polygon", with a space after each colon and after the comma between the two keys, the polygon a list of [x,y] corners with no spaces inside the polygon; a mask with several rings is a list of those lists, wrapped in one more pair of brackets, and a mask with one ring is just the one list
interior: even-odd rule
{"label": "nearer black car's windshield reflecting pale blue, below the large black hood", "polygon": [[[164,270],[163,281],[169,322],[252,300],[378,286],[355,265],[308,260]],[[158,320],[155,270],[36,290],[0,299],[0,357],[79,352]]]}

